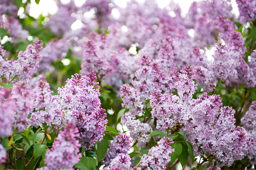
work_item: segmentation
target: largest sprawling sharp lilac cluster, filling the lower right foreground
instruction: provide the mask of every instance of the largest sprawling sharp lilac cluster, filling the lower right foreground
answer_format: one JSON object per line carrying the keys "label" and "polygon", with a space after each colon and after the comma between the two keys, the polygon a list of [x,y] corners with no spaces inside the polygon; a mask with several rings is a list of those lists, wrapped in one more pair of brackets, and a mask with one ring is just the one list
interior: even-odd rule
{"label": "largest sprawling sharp lilac cluster, filling the lower right foreground", "polygon": [[255,140],[246,135],[244,128],[236,127],[233,109],[220,108],[219,95],[204,93],[198,99],[192,99],[196,85],[191,67],[184,67],[179,78],[176,83],[179,97],[161,94],[161,91],[155,91],[151,96],[152,117],[159,118],[157,128],[169,131],[175,128],[173,124],[184,125],[181,131],[188,136],[195,154],[213,155],[219,166],[231,166],[234,160],[244,158],[252,150]]}

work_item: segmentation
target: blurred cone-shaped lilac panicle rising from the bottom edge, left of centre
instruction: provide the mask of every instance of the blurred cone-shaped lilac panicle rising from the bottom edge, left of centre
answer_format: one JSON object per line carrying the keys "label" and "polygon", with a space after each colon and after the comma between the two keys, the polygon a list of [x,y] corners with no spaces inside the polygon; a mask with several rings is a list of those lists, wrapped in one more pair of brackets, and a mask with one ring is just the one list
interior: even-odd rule
{"label": "blurred cone-shaped lilac panicle rising from the bottom edge, left of centre", "polygon": [[79,131],[74,123],[67,124],[64,131],[60,131],[56,137],[52,148],[47,150],[44,162],[50,170],[73,169],[73,166],[80,161],[82,157],[79,153],[81,144],[76,138],[79,138]]}

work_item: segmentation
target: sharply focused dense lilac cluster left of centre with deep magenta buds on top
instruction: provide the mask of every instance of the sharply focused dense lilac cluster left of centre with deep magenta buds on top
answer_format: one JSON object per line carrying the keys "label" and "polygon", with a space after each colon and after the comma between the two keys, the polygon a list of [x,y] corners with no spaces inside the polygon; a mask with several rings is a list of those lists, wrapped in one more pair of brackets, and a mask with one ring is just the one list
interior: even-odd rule
{"label": "sharply focused dense lilac cluster left of centre with deep magenta buds on top", "polygon": [[58,89],[58,103],[64,112],[64,122],[75,122],[80,131],[80,142],[86,149],[103,139],[107,114],[100,108],[100,92],[96,74],[75,74]]}

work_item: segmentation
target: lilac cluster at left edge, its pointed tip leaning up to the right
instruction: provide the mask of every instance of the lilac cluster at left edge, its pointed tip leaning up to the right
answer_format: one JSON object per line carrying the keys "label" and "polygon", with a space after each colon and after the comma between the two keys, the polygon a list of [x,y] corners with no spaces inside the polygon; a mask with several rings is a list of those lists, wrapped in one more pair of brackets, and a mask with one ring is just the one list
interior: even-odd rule
{"label": "lilac cluster at left edge, its pointed tip leaning up to the right", "polygon": [[28,83],[39,67],[42,46],[43,42],[41,40],[29,44],[24,52],[19,52],[18,59],[14,61],[3,59],[0,56],[0,75],[6,78],[4,81],[8,83],[17,81]]}

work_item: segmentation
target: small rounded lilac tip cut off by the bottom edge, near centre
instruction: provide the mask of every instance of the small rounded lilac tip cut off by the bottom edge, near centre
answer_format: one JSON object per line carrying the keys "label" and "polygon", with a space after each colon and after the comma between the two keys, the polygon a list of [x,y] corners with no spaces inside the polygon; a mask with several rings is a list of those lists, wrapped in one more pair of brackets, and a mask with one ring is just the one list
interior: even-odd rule
{"label": "small rounded lilac tip cut off by the bottom edge, near centre", "polygon": [[131,164],[130,156],[127,153],[120,153],[111,160],[109,167],[110,170],[132,170]]}

